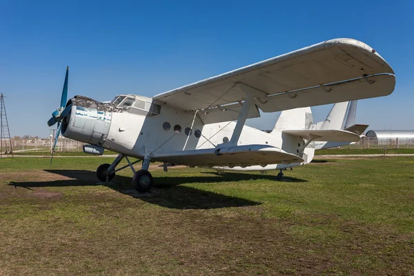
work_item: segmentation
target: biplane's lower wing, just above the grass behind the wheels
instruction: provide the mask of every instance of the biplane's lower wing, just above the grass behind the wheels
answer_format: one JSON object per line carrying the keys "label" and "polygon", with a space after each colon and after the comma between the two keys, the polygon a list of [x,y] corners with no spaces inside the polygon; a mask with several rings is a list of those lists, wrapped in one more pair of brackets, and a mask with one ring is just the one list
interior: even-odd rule
{"label": "biplane's lower wing, just above the grass behind the wheels", "polygon": [[151,159],[188,166],[266,166],[268,164],[302,163],[304,159],[268,145],[224,146],[201,150],[154,152]]}

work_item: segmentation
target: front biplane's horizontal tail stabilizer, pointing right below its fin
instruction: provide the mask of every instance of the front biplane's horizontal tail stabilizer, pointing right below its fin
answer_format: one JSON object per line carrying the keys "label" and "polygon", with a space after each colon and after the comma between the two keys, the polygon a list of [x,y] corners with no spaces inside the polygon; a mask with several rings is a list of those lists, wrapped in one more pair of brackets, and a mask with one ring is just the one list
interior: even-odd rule
{"label": "front biplane's horizontal tail stabilizer, pointing right below its fin", "polygon": [[312,141],[357,142],[359,135],[346,130],[283,130],[284,133]]}

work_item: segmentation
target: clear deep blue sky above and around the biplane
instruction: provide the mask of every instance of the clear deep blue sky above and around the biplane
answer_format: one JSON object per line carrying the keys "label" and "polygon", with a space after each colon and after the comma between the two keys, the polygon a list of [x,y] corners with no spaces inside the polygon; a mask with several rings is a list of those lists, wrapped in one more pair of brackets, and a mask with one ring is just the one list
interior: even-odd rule
{"label": "clear deep blue sky above and around the biplane", "polygon": [[[338,37],[364,41],[397,86],[359,101],[357,123],[414,129],[414,1],[0,1],[0,92],[11,135],[49,135],[69,96],[153,96]],[[315,121],[331,106],[313,108]],[[250,121],[272,128],[277,114]]]}

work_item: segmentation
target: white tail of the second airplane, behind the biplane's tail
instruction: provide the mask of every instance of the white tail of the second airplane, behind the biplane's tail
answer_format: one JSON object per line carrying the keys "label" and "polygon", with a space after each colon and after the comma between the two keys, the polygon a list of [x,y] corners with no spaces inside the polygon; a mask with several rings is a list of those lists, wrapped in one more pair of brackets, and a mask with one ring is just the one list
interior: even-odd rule
{"label": "white tail of the second airplane, behind the biplane's tail", "polygon": [[[359,135],[359,137],[363,137],[364,131],[368,128],[368,125],[355,124],[356,114],[357,101],[335,103],[325,121],[319,121],[319,123],[315,124],[314,129],[347,130]],[[315,150],[345,146],[353,143],[355,142],[319,141],[315,142]]]}

